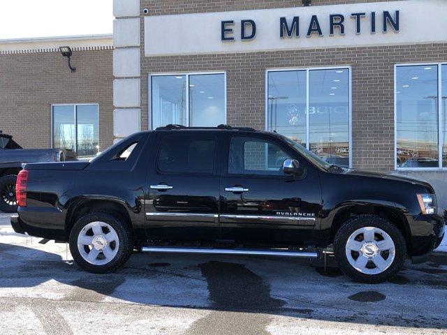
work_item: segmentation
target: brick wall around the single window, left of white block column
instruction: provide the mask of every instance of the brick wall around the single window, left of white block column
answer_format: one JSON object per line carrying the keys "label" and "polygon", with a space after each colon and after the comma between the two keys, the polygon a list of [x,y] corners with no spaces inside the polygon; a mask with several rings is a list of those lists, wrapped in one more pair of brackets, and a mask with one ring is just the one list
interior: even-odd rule
{"label": "brick wall around the single window, left of white block column", "polygon": [[51,104],[98,103],[99,145],[113,142],[112,50],[0,54],[0,130],[26,148],[50,147]]}

